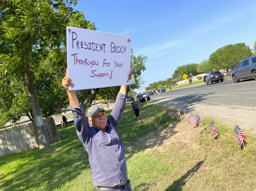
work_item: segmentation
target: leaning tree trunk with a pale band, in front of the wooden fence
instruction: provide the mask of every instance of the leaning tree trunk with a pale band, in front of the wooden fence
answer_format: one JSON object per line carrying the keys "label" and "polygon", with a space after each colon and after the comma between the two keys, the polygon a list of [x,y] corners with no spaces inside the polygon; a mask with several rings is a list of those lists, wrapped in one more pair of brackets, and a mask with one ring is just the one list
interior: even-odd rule
{"label": "leaning tree trunk with a pale band, in front of the wooden fence", "polygon": [[27,67],[24,67],[25,69],[25,82],[28,89],[28,95],[31,101],[32,111],[34,115],[34,123],[37,130],[37,137],[38,137],[38,146],[39,148],[43,148],[45,146],[50,145],[49,139],[47,136],[44,120],[42,118],[41,110],[39,107],[39,103],[37,100],[36,90],[34,87],[34,82],[32,77],[29,75],[30,69]]}

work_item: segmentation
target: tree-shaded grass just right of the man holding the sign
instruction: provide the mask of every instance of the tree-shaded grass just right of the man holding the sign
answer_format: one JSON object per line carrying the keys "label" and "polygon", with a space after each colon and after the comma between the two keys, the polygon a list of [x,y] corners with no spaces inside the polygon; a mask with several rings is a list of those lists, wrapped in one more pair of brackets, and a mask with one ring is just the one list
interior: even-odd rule
{"label": "tree-shaded grass just right of the man holding the sign", "polygon": [[[142,122],[136,120],[131,108],[126,109],[118,127],[118,133],[126,149],[126,159],[147,148],[161,146],[164,140],[177,133],[175,127],[180,120],[168,116],[167,109],[150,103],[140,104],[139,113]],[[169,127],[170,123],[172,123],[171,127]],[[166,133],[157,131],[163,128],[168,128]],[[147,139],[143,138],[145,135]]]}

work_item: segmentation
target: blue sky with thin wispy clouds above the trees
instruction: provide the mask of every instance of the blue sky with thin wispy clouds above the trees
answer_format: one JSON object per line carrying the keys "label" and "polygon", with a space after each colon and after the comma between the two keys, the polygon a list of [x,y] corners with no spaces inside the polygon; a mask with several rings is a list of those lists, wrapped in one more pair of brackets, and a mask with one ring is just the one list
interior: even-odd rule
{"label": "blue sky with thin wispy clouds above the trees", "polygon": [[148,57],[144,87],[227,44],[256,41],[256,1],[79,0],[75,9],[98,31],[132,37],[135,56]]}

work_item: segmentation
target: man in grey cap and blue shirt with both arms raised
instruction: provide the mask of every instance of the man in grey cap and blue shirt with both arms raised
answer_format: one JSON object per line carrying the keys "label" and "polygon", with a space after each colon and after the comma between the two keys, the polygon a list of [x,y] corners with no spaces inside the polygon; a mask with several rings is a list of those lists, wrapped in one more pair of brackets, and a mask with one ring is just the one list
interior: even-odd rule
{"label": "man in grey cap and blue shirt with both arms raised", "polygon": [[[127,80],[131,77],[130,73]],[[73,83],[67,73],[62,79],[62,85],[68,93],[68,110],[73,112],[76,133],[89,155],[94,186],[98,186],[98,191],[132,191],[130,180],[127,178],[123,144],[117,132],[125,100],[129,98],[126,95],[127,85],[120,87],[108,119],[105,110],[98,105],[88,109],[88,119],[86,118],[83,105],[78,101],[75,91],[69,90]]]}

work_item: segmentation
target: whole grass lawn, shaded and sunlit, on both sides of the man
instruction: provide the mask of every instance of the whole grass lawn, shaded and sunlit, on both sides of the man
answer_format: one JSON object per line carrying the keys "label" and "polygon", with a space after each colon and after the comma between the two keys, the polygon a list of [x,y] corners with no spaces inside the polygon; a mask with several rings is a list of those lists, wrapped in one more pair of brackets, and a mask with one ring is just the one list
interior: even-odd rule
{"label": "whole grass lawn, shaded and sunlit, on both sides of the man", "polygon": [[[250,130],[240,127],[246,135],[245,150],[237,145],[233,126],[214,120],[218,140],[210,134],[211,119],[203,119],[206,130],[198,134],[198,128],[184,121],[183,133],[190,142],[181,136],[166,144],[179,132],[178,120],[167,116],[166,106],[143,103],[139,108],[143,122],[136,121],[129,107],[118,127],[133,191],[255,190],[256,136]],[[0,157],[1,191],[97,190],[73,123],[58,131],[58,143]],[[158,134],[161,139],[154,136]]]}

